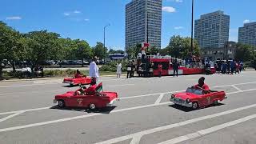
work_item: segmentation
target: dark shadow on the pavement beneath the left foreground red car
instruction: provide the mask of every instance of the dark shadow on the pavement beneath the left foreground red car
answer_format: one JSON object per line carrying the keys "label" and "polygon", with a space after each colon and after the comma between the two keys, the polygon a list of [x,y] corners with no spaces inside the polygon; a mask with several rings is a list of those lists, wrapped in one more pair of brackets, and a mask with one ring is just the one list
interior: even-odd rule
{"label": "dark shadow on the pavement beneath the left foreground red car", "polygon": [[90,110],[85,107],[65,107],[65,108],[59,108],[58,106],[52,106],[50,109],[56,109],[56,110],[71,110],[71,111],[80,111],[80,112],[86,112],[86,113],[100,113],[100,114],[110,114],[112,110],[114,110],[116,106],[109,106],[104,107],[97,110]]}

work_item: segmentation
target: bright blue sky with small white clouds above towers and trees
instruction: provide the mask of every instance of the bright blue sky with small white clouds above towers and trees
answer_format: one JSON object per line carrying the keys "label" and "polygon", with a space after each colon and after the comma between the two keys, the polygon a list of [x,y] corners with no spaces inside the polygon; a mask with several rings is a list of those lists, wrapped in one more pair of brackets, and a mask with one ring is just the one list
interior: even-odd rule
{"label": "bright blue sky with small white clouds above towers and trees", "polygon": [[[0,21],[26,33],[49,30],[62,38],[79,38],[95,46],[123,50],[125,6],[132,0],[1,0]],[[173,35],[190,36],[191,0],[162,0],[162,48]],[[230,41],[238,41],[238,27],[256,22],[255,0],[194,0],[194,19],[222,10],[230,15]]]}

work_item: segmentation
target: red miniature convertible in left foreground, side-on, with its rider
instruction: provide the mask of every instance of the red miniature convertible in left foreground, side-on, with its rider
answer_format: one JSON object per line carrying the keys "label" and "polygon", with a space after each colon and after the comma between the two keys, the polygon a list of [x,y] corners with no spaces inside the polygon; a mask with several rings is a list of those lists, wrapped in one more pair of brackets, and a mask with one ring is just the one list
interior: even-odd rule
{"label": "red miniature convertible in left foreground, side-on, with its rider", "polygon": [[60,108],[63,107],[89,107],[91,110],[106,106],[113,106],[118,100],[115,92],[102,91],[102,83],[90,86],[88,89],[80,87],[76,91],[68,91],[66,94],[58,94],[54,98],[54,103],[58,102]]}

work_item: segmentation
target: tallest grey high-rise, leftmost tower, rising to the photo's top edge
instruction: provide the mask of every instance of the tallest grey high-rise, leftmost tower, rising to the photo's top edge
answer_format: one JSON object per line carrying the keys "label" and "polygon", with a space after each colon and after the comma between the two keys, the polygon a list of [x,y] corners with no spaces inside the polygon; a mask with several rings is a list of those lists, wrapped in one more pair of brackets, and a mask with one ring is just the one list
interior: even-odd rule
{"label": "tallest grey high-rise, leftmost tower, rising to the photo's top edge", "polygon": [[162,0],[132,0],[126,5],[126,48],[148,39],[160,49],[161,27]]}

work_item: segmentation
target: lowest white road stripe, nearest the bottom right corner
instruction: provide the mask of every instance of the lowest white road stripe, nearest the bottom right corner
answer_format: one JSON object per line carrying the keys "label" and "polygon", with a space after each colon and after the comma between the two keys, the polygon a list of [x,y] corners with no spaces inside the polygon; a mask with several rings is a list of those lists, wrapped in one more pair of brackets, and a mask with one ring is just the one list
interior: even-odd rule
{"label": "lowest white road stripe, nearest the bottom right corner", "polygon": [[170,139],[166,142],[160,142],[158,144],[175,144],[175,143],[178,143],[178,142],[184,142],[184,141],[190,140],[192,138],[198,138],[198,137],[201,137],[202,135],[206,135],[206,134],[210,134],[210,133],[213,133],[215,131],[218,131],[218,130],[222,130],[226,127],[234,126],[234,125],[237,125],[239,123],[249,121],[249,120],[254,119],[254,118],[256,118],[256,114],[252,114],[252,115],[249,115],[245,118],[240,118],[240,119],[237,119],[237,120],[234,120],[234,121],[231,121],[231,122],[226,122],[226,123],[223,123],[222,125],[210,127],[208,129],[205,129],[205,130],[199,130],[195,133],[186,134],[186,135],[183,135],[183,136],[178,137],[178,138]]}

